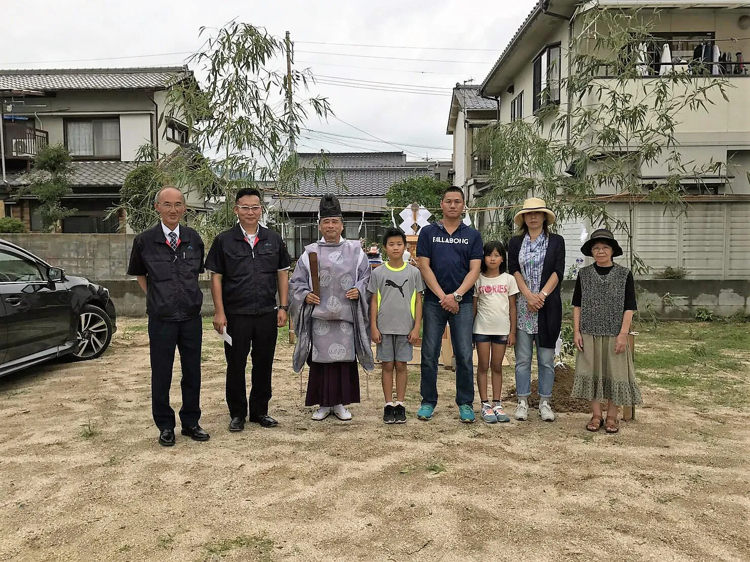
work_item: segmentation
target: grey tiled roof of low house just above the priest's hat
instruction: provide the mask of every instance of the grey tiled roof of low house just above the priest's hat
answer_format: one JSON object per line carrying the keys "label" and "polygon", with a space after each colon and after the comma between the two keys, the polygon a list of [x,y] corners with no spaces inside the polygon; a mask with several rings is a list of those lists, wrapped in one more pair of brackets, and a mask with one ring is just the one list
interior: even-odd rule
{"label": "grey tiled roof of low house just above the priest's hat", "polygon": [[430,169],[426,166],[424,168],[327,169],[317,185],[313,172],[303,175],[296,193],[304,196],[335,193],[348,197],[384,197],[393,184],[425,175],[431,175]]}

